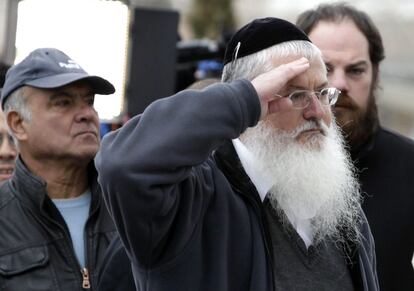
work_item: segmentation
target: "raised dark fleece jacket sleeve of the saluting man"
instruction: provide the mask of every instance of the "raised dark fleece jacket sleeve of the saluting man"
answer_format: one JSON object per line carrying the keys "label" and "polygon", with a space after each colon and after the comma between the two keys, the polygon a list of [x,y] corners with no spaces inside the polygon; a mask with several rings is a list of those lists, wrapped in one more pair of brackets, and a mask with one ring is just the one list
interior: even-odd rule
{"label": "raised dark fleece jacket sleeve of the saluting man", "polygon": [[239,80],[157,100],[105,136],[98,179],[132,263],[149,269],[182,251],[215,193],[210,154],[259,117],[255,89]]}

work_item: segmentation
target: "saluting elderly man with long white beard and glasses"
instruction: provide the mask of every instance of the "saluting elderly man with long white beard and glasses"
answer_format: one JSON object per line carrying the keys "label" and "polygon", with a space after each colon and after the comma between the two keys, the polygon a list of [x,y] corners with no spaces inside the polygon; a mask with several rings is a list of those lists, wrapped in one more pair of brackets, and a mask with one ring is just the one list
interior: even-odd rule
{"label": "saluting elderly man with long white beard and glasses", "polygon": [[378,290],[320,51],[264,18],[224,64],[222,83],[160,99],[102,141],[137,290]]}

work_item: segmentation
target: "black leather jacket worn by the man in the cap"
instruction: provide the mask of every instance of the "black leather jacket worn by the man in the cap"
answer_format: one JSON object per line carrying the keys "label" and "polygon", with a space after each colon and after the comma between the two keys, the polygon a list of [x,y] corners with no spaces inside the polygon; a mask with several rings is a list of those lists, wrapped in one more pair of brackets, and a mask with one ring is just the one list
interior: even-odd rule
{"label": "black leather jacket worn by the man in the cap", "polygon": [[66,223],[46,194],[46,183],[17,160],[12,178],[0,186],[1,291],[97,290],[97,268],[116,232],[92,163],[89,181],[87,265],[80,266]]}

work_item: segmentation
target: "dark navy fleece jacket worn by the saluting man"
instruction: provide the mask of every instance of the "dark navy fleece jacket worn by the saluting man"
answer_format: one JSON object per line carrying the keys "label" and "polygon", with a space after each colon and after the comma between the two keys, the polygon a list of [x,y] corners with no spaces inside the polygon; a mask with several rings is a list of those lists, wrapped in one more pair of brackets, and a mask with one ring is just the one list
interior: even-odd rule
{"label": "dark navy fleece jacket worn by the saluting man", "polygon": [[[275,290],[257,191],[239,162],[213,154],[259,117],[251,83],[236,81],[158,100],[103,139],[99,182],[137,290]],[[359,290],[377,290],[364,235],[354,273]]]}

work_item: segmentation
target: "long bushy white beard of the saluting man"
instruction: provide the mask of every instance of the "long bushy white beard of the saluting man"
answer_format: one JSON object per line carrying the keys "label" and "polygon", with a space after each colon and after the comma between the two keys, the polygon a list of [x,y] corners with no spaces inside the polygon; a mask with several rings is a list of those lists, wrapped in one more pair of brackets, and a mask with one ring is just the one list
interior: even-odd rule
{"label": "long bushy white beard of the saluting man", "polygon": [[[296,137],[311,128],[321,128],[323,134],[299,143]],[[256,159],[255,167],[271,179],[267,197],[279,214],[310,219],[314,243],[326,237],[358,240],[359,184],[334,122],[328,128],[308,121],[293,132],[283,132],[261,121],[240,139]]]}

